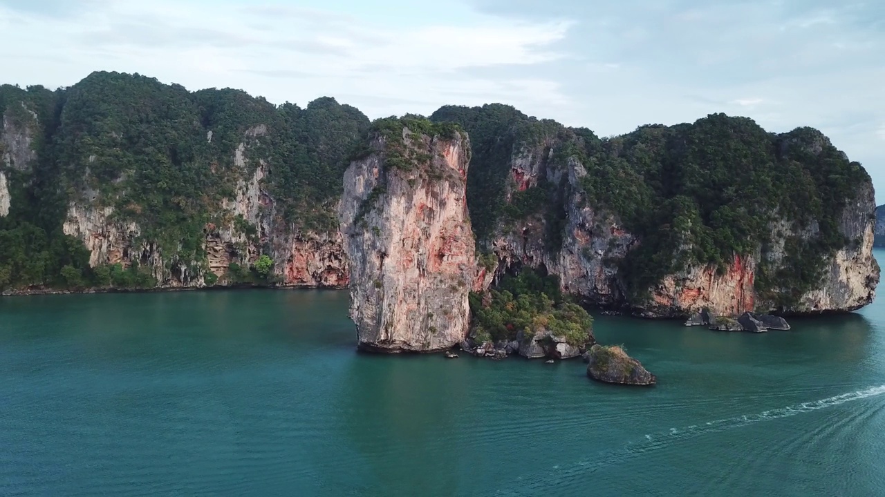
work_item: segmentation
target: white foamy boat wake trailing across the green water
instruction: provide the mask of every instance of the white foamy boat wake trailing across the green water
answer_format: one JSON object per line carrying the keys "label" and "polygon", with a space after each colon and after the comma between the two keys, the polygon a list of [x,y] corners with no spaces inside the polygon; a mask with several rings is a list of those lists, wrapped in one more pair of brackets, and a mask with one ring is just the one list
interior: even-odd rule
{"label": "white foamy boat wake trailing across the green water", "polygon": [[[605,466],[622,463],[627,459],[632,459],[640,455],[667,447],[675,442],[687,440],[703,436],[709,433],[724,432],[740,428],[748,424],[760,423],[763,421],[771,421],[773,419],[781,419],[783,417],[793,417],[807,412],[819,409],[827,409],[835,407],[846,402],[859,401],[869,397],[876,397],[885,394],[885,385],[871,386],[864,390],[850,392],[848,394],[835,395],[820,401],[808,401],[780,409],[769,409],[758,414],[727,417],[709,421],[704,424],[692,424],[681,428],[670,428],[666,432],[658,432],[646,434],[643,439],[635,442],[629,442],[626,447],[616,450],[601,452],[587,460],[568,464],[557,465],[551,470],[534,477],[520,477],[519,481],[522,486],[519,492],[501,491],[498,495],[521,495],[524,493],[532,494],[538,488],[550,488],[551,485],[563,485],[570,482],[576,485],[586,483],[586,473],[596,471]],[[579,479],[580,477],[580,479]]]}

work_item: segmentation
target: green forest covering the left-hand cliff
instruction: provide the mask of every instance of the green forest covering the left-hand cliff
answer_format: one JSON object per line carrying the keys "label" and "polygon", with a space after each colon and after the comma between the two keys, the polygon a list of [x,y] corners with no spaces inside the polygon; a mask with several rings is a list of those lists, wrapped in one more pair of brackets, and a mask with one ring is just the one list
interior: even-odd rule
{"label": "green forest covering the left-hand cliff", "polygon": [[37,155],[4,170],[12,212],[0,218],[0,291],[156,285],[137,268],[115,278],[89,268],[82,243],[62,233],[71,202],[113,207],[112,221],[138,224],[135,244],[161,251],[167,269],[181,262],[209,283],[205,226],[233,223],[258,243],[255,226],[219,205],[235,199],[238,182],[249,184],[259,164],[277,222],[333,231],[348,150],[369,126],[332,98],[275,107],[239,90],[190,93],[120,73],[93,73],[55,92],[2,86],[0,113],[31,130]]}

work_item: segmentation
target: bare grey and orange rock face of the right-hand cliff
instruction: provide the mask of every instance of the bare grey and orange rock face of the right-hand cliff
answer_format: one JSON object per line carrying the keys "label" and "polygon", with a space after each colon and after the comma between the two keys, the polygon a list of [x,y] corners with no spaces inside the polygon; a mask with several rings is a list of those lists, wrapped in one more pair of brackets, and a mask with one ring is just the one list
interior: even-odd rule
{"label": "bare grey and orange rock face of the right-hand cliff", "polygon": [[[812,157],[805,160],[812,161],[833,149],[822,135],[811,136],[790,141],[781,154],[792,160],[789,154],[804,153]],[[821,236],[817,219],[800,222],[774,212],[765,237],[769,242],[749,254],[731,256],[723,266],[676,264],[676,271],[645,291],[630,288],[623,275],[625,265],[633,264],[627,256],[642,245],[643,237],[627,231],[612,210],[588,201],[581,184],[588,175],[584,164],[561,153],[569,146],[568,141],[550,139],[514,144],[507,159],[504,202],[518,203],[519,195],[541,189],[548,194],[543,208],[496,224],[485,248],[499,260],[498,275],[522,265],[540,267],[558,275],[562,290],[582,302],[644,317],[684,317],[704,308],[731,316],[757,310],[808,314],[856,310],[872,302],[879,267],[872,255],[874,206],[868,179],[843,199],[836,218],[837,234],[845,242],[809,263],[820,264],[820,278],[810,287],[792,287],[780,276],[759,284],[759,271],[795,271],[799,255],[793,247],[818,243]],[[670,253],[671,261],[689,260],[696,252],[690,226],[684,229],[688,231]],[[806,269],[812,271],[811,266]]]}

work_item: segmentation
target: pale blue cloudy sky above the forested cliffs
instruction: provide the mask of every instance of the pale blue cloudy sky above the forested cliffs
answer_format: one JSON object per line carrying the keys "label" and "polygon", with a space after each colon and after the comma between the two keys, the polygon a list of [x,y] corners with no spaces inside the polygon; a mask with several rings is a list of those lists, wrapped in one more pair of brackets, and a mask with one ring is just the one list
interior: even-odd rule
{"label": "pale blue cloudy sky above the forested cliffs", "polygon": [[813,126],[885,203],[881,0],[0,0],[0,32],[21,86],[142,73],[373,119],[500,102],[601,136],[712,112]]}

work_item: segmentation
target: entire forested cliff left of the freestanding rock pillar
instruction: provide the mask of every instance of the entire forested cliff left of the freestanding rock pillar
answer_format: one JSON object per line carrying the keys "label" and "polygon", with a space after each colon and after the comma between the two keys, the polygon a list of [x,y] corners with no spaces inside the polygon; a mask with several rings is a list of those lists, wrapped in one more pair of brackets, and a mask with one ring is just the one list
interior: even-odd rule
{"label": "entire forested cliff left of the freestanding rock pillar", "polygon": [[0,291],[347,285],[353,107],[93,73],[0,112]]}

